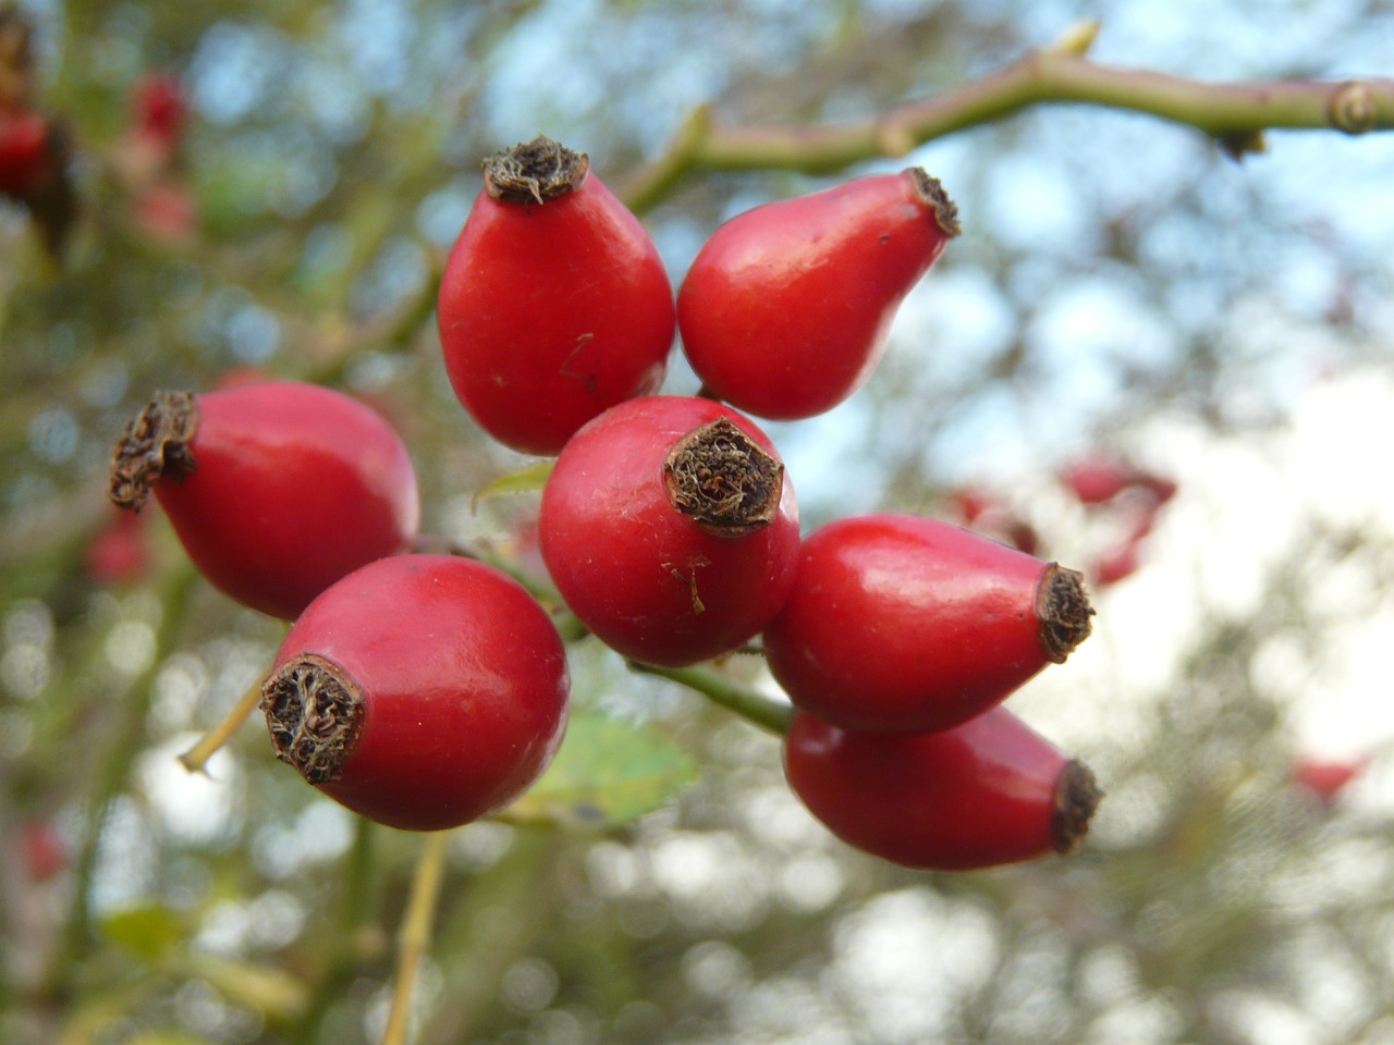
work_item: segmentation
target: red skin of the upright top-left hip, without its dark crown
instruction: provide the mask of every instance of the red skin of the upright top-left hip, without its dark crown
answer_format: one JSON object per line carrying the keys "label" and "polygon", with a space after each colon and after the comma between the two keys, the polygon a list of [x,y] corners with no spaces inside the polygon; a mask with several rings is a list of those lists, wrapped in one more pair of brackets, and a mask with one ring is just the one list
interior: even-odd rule
{"label": "red skin of the upright top-left hip, without its dark crown", "polygon": [[587,421],[658,389],[673,290],[638,219],[590,173],[546,203],[481,191],[436,319],[460,403],[500,443],[556,454]]}

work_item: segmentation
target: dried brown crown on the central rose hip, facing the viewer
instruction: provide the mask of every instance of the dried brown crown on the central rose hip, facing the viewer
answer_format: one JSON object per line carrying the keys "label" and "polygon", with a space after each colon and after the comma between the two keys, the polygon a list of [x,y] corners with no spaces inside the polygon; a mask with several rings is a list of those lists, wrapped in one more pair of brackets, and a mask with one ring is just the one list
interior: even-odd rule
{"label": "dried brown crown on the central rose hip, facing the viewer", "polygon": [[664,461],[668,503],[712,536],[747,536],[775,521],[783,463],[726,418],[693,429]]}

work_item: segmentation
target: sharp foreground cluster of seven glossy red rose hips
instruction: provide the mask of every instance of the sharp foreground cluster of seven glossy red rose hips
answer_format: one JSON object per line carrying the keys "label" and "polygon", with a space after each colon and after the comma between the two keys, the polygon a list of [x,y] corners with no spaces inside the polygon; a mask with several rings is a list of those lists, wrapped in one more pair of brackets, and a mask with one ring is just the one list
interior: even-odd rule
{"label": "sharp foreground cluster of seven glossy red rose hips", "polygon": [[[747,417],[850,396],[896,308],[958,234],[919,169],[740,215],[675,295],[584,155],[538,138],[484,164],[438,298],[480,426],[555,456],[538,536],[566,607],[637,665],[761,648],[795,705],[790,786],[834,833],[916,868],[1069,851],[1090,772],[999,706],[1090,631],[1072,570],[933,518],[800,536]],[[657,394],[677,333],[703,382]],[[112,496],[153,490],[217,588],[293,620],[262,708],[276,754],[383,823],[442,829],[545,769],[569,673],[551,616],[480,562],[424,555],[392,428],[290,382],[162,393],[117,446]]]}

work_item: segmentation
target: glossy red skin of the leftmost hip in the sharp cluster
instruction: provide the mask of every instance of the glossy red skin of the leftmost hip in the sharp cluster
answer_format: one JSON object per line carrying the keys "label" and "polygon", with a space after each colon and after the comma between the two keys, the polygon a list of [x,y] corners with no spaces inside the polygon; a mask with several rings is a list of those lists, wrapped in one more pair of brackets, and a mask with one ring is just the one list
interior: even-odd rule
{"label": "glossy red skin of the leftmost hip in the sharp cluster", "polygon": [[197,471],[155,496],[215,588],[294,620],[344,574],[406,550],[421,507],[401,439],[368,407],[297,382],[195,397]]}

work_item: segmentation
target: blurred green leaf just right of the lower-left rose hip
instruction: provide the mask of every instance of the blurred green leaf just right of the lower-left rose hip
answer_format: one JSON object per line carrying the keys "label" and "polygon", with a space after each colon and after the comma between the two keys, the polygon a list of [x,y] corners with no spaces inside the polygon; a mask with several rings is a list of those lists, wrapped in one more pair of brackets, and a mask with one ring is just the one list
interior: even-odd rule
{"label": "blurred green leaf just right of the lower-left rose hip", "polygon": [[651,726],[577,712],[552,766],[498,818],[604,830],[662,807],[696,776],[687,752]]}

